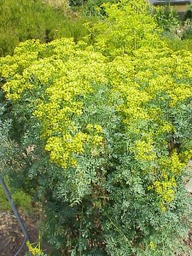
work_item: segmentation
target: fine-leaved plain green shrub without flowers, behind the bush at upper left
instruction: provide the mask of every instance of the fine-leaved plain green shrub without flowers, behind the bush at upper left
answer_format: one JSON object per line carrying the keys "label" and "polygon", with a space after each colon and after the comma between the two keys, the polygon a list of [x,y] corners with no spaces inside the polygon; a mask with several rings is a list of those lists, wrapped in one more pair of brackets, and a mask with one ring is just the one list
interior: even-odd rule
{"label": "fine-leaved plain green shrub without flowers, behind the bush at upper left", "polygon": [[62,6],[54,9],[40,0],[0,0],[0,55],[12,55],[15,46],[26,39],[49,42],[55,38],[86,34],[84,20],[63,15]]}

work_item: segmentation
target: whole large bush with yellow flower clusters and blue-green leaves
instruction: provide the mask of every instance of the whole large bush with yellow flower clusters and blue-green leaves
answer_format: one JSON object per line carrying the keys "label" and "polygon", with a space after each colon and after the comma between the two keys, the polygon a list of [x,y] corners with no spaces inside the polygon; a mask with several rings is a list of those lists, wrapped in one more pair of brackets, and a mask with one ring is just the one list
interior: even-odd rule
{"label": "whole large bush with yellow flower clusters and blue-green leaves", "polygon": [[160,40],[144,0],[105,13],[78,44],[30,40],[1,58],[9,177],[42,202],[53,255],[181,253],[192,54]]}

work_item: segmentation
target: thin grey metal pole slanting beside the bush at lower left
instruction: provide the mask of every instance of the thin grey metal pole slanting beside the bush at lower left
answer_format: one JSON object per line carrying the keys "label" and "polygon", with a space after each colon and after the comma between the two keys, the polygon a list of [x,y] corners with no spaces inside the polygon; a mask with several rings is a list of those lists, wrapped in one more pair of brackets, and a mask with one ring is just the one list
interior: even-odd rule
{"label": "thin grey metal pole slanting beside the bush at lower left", "polygon": [[[20,229],[22,230],[24,236],[26,237],[26,241],[30,241],[29,235],[28,235],[27,230],[26,230],[26,225],[23,223],[22,219],[20,218],[20,213],[18,212],[17,208],[15,207],[15,203],[14,203],[14,201],[13,201],[13,199],[12,199],[10,193],[9,193],[9,189],[6,186],[2,177],[0,177],[0,183],[3,187],[5,195],[7,196],[9,204],[10,204],[13,212],[15,213],[15,217],[17,218],[17,221],[20,224]],[[29,253],[29,255],[31,255],[31,253]]]}

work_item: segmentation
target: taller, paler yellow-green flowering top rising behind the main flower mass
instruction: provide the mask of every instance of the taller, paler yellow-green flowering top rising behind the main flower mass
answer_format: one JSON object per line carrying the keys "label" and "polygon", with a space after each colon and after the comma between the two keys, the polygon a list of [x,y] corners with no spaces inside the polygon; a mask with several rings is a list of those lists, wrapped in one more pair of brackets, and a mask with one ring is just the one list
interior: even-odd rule
{"label": "taller, paler yellow-green flowering top rising behind the main flower mass", "polygon": [[[104,55],[114,57],[131,54],[142,46],[162,47],[159,40],[160,28],[149,15],[145,3],[126,1],[105,3],[106,18],[90,29],[90,42]],[[120,18],[119,18],[120,17]]]}

